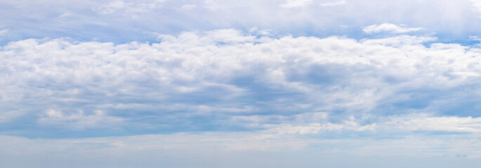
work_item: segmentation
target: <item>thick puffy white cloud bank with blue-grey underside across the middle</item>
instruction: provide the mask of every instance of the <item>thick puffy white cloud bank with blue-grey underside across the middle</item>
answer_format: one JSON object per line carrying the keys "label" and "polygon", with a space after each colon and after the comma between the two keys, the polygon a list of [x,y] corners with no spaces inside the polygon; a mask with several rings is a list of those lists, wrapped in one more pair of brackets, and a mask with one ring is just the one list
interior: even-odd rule
{"label": "thick puffy white cloud bank with blue-grey underside across the middle", "polygon": [[[269,130],[275,125],[293,127],[291,132],[372,130],[374,123],[365,122],[382,116],[477,117],[474,111],[481,109],[470,101],[481,95],[480,49],[423,45],[435,39],[430,36],[356,40],[219,29],[159,39],[11,42],[1,50],[8,62],[0,69],[6,77],[0,85],[8,88],[0,92],[6,104],[1,108],[25,111],[25,118],[42,111],[38,123],[46,127],[91,123],[88,129],[100,127],[101,121],[123,121],[131,133],[175,127]],[[51,109],[59,110],[44,113]],[[454,112],[459,109],[466,112]],[[79,110],[92,114],[72,113]],[[93,113],[98,110],[109,116]],[[296,115],[309,111],[329,118],[296,122]]]}

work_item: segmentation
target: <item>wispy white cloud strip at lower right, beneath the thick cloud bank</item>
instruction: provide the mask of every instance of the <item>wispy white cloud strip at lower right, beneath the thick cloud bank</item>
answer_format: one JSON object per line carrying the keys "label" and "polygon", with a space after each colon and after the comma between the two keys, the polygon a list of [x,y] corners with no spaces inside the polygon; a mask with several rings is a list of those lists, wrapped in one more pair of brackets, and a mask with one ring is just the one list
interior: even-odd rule
{"label": "wispy white cloud strip at lower right, beneath the thick cloud bank", "polygon": [[346,118],[338,123],[329,121],[327,113],[303,113],[295,116],[234,116],[230,125],[267,128],[270,134],[326,134],[327,132],[378,132],[378,134],[408,134],[423,132],[481,132],[481,117],[437,117],[427,113],[381,117],[374,123],[364,123],[372,118]]}

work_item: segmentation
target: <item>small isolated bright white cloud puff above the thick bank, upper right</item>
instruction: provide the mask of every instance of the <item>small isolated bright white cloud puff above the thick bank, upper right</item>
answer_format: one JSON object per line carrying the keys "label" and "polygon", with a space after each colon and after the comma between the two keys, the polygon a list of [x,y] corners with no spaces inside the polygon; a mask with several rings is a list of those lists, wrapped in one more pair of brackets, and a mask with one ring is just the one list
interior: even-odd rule
{"label": "small isolated bright white cloud puff above the thick bank, upper right", "polygon": [[383,23],[381,25],[370,25],[368,27],[364,27],[362,31],[367,34],[375,34],[381,32],[388,32],[388,33],[395,33],[395,34],[403,34],[412,31],[420,31],[423,28],[420,27],[405,27],[405,26],[397,26],[392,23]]}

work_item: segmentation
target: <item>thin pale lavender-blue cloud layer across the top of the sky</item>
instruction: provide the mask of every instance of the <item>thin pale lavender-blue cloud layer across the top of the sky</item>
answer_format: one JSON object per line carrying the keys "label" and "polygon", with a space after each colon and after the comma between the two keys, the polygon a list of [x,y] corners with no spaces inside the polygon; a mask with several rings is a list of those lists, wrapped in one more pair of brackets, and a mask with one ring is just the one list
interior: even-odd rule
{"label": "thin pale lavender-blue cloud layer across the top of the sky", "polygon": [[[180,34],[225,28],[246,31],[252,27],[275,30],[280,36],[336,35],[359,40],[372,36],[364,34],[363,27],[383,23],[423,27],[423,31],[415,33],[438,34],[440,41],[449,43],[453,39],[470,43],[468,36],[481,36],[477,31],[481,27],[479,5],[470,0],[48,0],[0,1],[0,6],[4,6],[0,14],[8,16],[0,18],[0,32],[8,29],[8,34],[0,36],[2,45],[44,37],[117,44],[152,42],[154,32]],[[409,30],[393,25],[388,29]]]}

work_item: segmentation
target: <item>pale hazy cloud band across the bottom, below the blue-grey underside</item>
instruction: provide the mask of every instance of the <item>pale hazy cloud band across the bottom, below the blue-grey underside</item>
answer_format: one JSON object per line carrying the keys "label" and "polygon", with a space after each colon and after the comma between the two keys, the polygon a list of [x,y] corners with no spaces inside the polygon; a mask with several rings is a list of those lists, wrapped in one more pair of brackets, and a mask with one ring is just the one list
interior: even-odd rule
{"label": "pale hazy cloud band across the bottom, below the blue-grey underside", "polygon": [[[79,120],[81,118],[79,116],[82,115],[66,115],[55,110],[44,113],[44,117],[57,120],[56,123],[59,120],[72,118]],[[96,112],[91,116],[105,116],[105,114]],[[83,118],[88,117],[84,115]],[[291,117],[256,116],[244,119],[263,123],[266,118],[280,118],[284,120],[282,123],[289,123],[288,119]],[[312,158],[299,160],[308,155],[312,156],[312,151],[315,151],[317,154],[315,156],[319,158],[327,156],[333,158],[334,155],[339,155],[338,159],[353,157],[362,158],[362,160],[369,157],[376,159],[402,157],[406,160],[435,157],[444,160],[458,157],[463,157],[463,160],[481,158],[481,141],[478,134],[481,131],[481,118],[409,114],[390,116],[376,123],[364,123],[365,120],[360,118],[330,123],[327,113],[316,112],[296,115],[291,119],[294,119],[291,120],[294,123],[271,125],[268,130],[249,132],[178,132],[84,139],[26,139],[0,136],[0,155],[7,160],[18,160],[28,155],[37,167],[48,167],[44,166],[45,162],[42,160],[50,155],[53,157],[47,157],[48,162],[55,162],[56,165],[61,160],[71,160],[71,156],[74,155],[77,162],[95,158],[98,159],[95,164],[103,164],[103,166],[129,158],[129,162],[155,160],[164,165],[170,160],[169,164],[172,164],[172,167],[181,167],[183,162],[197,163],[195,158],[199,157],[204,161],[214,158],[218,160],[219,157],[239,160],[246,157],[245,153],[255,155],[253,156],[255,158],[261,157],[263,162],[277,160],[272,159],[271,153],[296,153],[296,155],[302,153],[298,156],[300,158],[295,160],[302,161],[304,165],[317,165],[318,162],[306,162]],[[434,133],[426,134],[426,132]],[[395,135],[391,136],[392,134]],[[188,157],[185,156],[186,151],[189,153]],[[260,155],[262,153],[270,155]],[[233,154],[239,154],[239,156],[233,156]],[[165,158],[166,155],[171,158]],[[202,158],[203,155],[206,158]],[[283,154],[282,157],[286,155]],[[176,160],[173,161],[174,158]],[[19,165],[18,162],[2,163]],[[84,167],[91,166],[90,162],[87,163]],[[220,163],[216,162],[216,165],[218,164]]]}

